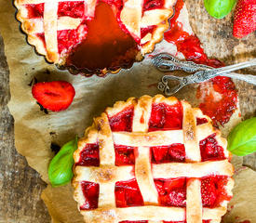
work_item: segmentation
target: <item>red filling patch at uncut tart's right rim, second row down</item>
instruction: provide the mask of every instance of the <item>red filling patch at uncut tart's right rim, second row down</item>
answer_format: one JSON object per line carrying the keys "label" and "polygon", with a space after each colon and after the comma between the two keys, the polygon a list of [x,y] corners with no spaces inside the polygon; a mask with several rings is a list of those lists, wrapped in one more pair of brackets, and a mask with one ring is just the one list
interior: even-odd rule
{"label": "red filling patch at uncut tart's right rim, second row down", "polygon": [[225,159],[223,148],[218,145],[215,136],[216,134],[212,134],[200,141],[202,161]]}

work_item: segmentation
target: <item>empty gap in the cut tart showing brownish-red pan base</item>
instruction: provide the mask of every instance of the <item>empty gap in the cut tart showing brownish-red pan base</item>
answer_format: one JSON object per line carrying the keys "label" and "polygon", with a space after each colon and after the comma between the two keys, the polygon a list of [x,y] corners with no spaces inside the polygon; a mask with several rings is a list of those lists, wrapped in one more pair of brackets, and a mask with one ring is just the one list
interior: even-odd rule
{"label": "empty gap in the cut tart showing brownish-red pan base", "polygon": [[130,66],[139,52],[133,37],[124,32],[112,7],[99,2],[93,20],[87,21],[87,37],[74,46],[67,65],[88,72],[99,69],[116,70]]}

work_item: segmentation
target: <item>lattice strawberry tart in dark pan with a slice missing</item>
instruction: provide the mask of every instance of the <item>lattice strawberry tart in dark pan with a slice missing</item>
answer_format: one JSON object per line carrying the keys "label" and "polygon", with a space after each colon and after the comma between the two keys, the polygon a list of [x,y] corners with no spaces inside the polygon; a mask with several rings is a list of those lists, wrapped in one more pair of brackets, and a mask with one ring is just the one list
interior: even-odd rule
{"label": "lattice strawberry tart in dark pan with a slice missing", "polygon": [[154,50],[176,0],[15,0],[28,42],[77,72],[127,68]]}

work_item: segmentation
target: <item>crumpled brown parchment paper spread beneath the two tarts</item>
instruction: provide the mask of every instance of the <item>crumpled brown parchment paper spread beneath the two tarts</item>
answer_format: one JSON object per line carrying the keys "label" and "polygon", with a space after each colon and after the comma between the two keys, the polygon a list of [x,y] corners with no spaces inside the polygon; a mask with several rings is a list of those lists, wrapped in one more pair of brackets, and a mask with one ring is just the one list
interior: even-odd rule
{"label": "crumpled brown parchment paper spread beneath the two tarts", "polygon": [[[107,106],[112,106],[116,100],[139,98],[144,94],[154,96],[159,93],[156,85],[163,73],[157,72],[149,59],[134,64],[129,70],[110,74],[105,78],[85,78],[60,71],[54,65],[48,64],[43,57],[36,55],[34,47],[26,43],[25,35],[19,30],[20,24],[15,20],[15,11],[11,1],[0,0],[0,32],[5,41],[10,71],[11,100],[8,108],[15,119],[15,145],[26,157],[28,164],[48,183],[47,166],[54,155],[50,149],[51,143],[63,145],[75,135],[81,137],[86,127],[91,125],[92,118],[98,116]],[[184,28],[192,33],[185,8],[179,20]],[[164,41],[155,48],[155,53],[161,51],[168,51],[182,58],[181,54],[177,54],[176,46]],[[69,81],[76,91],[73,104],[64,112],[40,111],[31,94],[34,78],[38,82]],[[196,85],[184,87],[175,96],[196,106],[198,102],[195,98],[195,87]],[[226,134],[239,121],[236,113],[223,132]],[[234,162],[235,196],[224,222],[240,222],[244,219],[249,219],[251,223],[256,222],[256,174],[246,167],[241,167],[240,158],[236,157]],[[73,200],[73,189],[70,185],[59,188],[48,185],[42,198],[53,222],[83,222]]]}

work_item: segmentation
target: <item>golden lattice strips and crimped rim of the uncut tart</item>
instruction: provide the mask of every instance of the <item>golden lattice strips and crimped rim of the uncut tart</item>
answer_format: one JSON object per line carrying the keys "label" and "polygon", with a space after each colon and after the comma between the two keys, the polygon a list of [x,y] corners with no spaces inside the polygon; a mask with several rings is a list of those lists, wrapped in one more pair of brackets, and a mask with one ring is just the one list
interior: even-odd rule
{"label": "golden lattice strips and crimped rim of the uncut tart", "polygon": [[[151,119],[155,105],[175,106],[180,102],[176,98],[163,96],[141,97],[139,100],[129,98],[127,102],[117,102],[114,108],[108,108],[101,117],[95,120],[86,137],[79,142],[78,150],[74,152],[74,161],[79,163],[80,153],[87,143],[99,143],[100,165],[79,166],[74,168],[74,199],[79,206],[83,204],[79,182],[90,181],[100,184],[98,208],[94,210],[81,210],[88,222],[119,222],[123,220],[150,222],[183,221],[198,223],[203,220],[220,222],[221,216],[226,211],[227,201],[219,203],[213,208],[203,207],[201,180],[208,176],[226,176],[227,183],[224,189],[228,196],[232,196],[233,166],[229,163],[229,154],[226,151],[226,141],[221,138],[220,132],[215,130],[209,117],[198,109],[182,101],[182,130],[155,129],[152,131]],[[118,115],[125,109],[131,111],[132,117],[126,114],[126,120],[131,120],[131,128],[127,130],[112,131],[111,117],[115,122],[122,120]],[[168,108],[168,107],[166,107]],[[170,109],[167,109],[170,110]],[[175,115],[175,114],[174,114]],[[197,121],[204,120],[197,125]],[[214,135],[216,142],[222,147],[221,160],[203,160],[199,144],[205,138]],[[151,164],[151,148],[182,143],[185,150],[185,163]],[[116,166],[114,161],[115,145],[133,147],[135,164]],[[204,158],[205,159],[205,158]],[[134,172],[133,172],[134,168]],[[136,178],[144,206],[115,207],[115,183]],[[155,178],[187,178],[186,182],[186,207],[159,206],[159,195],[155,188]]]}

